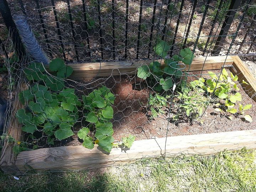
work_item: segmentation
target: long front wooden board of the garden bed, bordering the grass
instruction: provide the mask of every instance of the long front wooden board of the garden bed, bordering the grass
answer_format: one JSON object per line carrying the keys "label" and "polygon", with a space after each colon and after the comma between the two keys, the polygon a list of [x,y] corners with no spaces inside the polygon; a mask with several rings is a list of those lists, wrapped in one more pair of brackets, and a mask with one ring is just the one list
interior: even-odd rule
{"label": "long front wooden board of the garden bed, bordering the grass", "polygon": [[[244,146],[256,148],[256,130],[209,133],[168,137],[166,156],[212,155],[223,150],[237,150]],[[141,158],[155,158],[165,154],[165,138],[135,141],[129,150],[112,149],[107,154],[97,145],[94,149],[83,146],[61,146],[33,151],[23,151],[17,156],[19,170],[69,170],[90,169],[115,165]]]}

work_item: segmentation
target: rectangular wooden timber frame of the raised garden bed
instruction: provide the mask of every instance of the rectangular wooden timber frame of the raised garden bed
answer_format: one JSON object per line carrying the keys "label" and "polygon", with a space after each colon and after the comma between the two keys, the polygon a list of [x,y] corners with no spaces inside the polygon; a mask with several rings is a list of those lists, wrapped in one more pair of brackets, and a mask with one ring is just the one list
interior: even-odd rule
{"label": "rectangular wooden timber frame of the raised garden bed", "polygon": [[[119,82],[122,85],[120,90],[118,86],[113,88],[113,92],[118,92],[119,95],[123,93],[126,86],[130,85],[129,78],[128,82],[125,83],[126,79],[122,79],[121,75],[129,76],[134,75],[136,69],[144,64],[149,64],[152,61],[139,61],[139,62],[112,62],[112,63],[88,63],[88,64],[72,64],[74,73],[70,78],[77,79],[90,79],[95,76],[119,76]],[[162,64],[162,63],[161,63]],[[207,57],[207,58],[194,58],[193,63],[190,65],[190,71],[202,71],[202,70],[220,70],[222,68],[227,68],[232,71],[233,74],[238,75],[239,82],[247,82],[247,84],[241,84],[243,86],[248,98],[246,102],[256,101],[256,80],[250,74],[249,70],[244,66],[239,57]],[[196,73],[196,72],[195,72]],[[117,82],[116,80],[114,80]],[[123,82],[124,81],[124,82]],[[123,84],[122,84],[123,82]],[[115,84],[115,85],[118,85]],[[126,85],[126,86],[124,86]],[[26,89],[25,85],[21,85],[21,90]],[[128,90],[129,92],[129,90]],[[142,91],[139,91],[142,92]],[[129,94],[128,94],[129,95]],[[133,95],[135,95],[133,93]],[[252,100],[250,100],[252,98]],[[135,98],[136,100],[136,98]],[[138,100],[138,99],[137,99]],[[253,101],[254,100],[254,101]],[[253,104],[253,103],[252,103]],[[8,130],[9,135],[12,135],[16,140],[20,140],[21,126],[15,118],[15,113],[18,108],[22,105],[19,103],[18,99],[15,99],[14,109],[12,110],[13,118],[11,119],[10,128]],[[119,109],[116,109],[119,111]],[[136,110],[134,110],[136,111]],[[250,113],[251,116],[253,113]],[[116,116],[116,119],[118,115]],[[138,117],[131,117],[136,122]],[[122,117],[118,119],[117,122],[127,121]],[[147,120],[148,121],[148,120]],[[153,125],[159,124],[156,120],[151,123]],[[218,121],[218,119],[217,119]],[[143,121],[141,121],[143,122]],[[167,121],[166,121],[167,123]],[[255,121],[247,124],[245,122],[244,127],[248,129],[253,129],[255,126]],[[224,123],[225,124],[225,123]],[[114,122],[113,122],[114,125]],[[250,125],[251,127],[248,127]],[[151,129],[155,129],[154,126],[149,124]],[[163,127],[167,125],[163,124]],[[189,125],[188,125],[189,126]],[[118,127],[116,125],[116,127]],[[128,127],[132,127],[128,125]],[[140,128],[141,126],[136,125],[134,128]],[[157,127],[157,126],[156,126]],[[113,127],[114,128],[114,127]],[[125,128],[125,127],[124,127]],[[170,128],[170,127],[169,127]],[[115,129],[115,128],[114,128]],[[127,128],[125,128],[127,130]],[[183,126],[181,129],[187,129]],[[223,129],[227,131],[229,129]],[[234,130],[234,129],[231,129]],[[236,129],[237,130],[237,129]],[[239,130],[239,129],[238,129]],[[116,129],[114,135],[117,137],[122,133],[118,133],[120,129]],[[202,130],[204,133],[205,130]],[[164,131],[165,132],[165,131]],[[200,133],[200,132],[199,132]],[[181,134],[191,134],[191,133],[181,133]],[[164,135],[154,133],[154,136],[163,137]],[[177,135],[177,134],[172,134]],[[148,134],[146,137],[138,137],[138,139],[144,139],[150,137]],[[54,148],[43,148],[32,151],[22,151],[15,157],[12,153],[12,145],[5,143],[3,151],[1,154],[1,169],[5,172],[27,172],[31,170],[66,170],[66,169],[81,169],[81,168],[91,168],[101,165],[118,164],[120,162],[132,161],[135,159],[146,158],[146,157],[158,157],[161,155],[171,156],[180,154],[199,154],[199,155],[210,155],[215,154],[218,151],[228,149],[235,150],[240,149],[244,146],[247,148],[256,148],[256,130],[241,130],[235,132],[225,132],[225,133],[209,133],[209,134],[197,134],[197,135],[182,135],[176,137],[166,138],[156,138],[156,139],[146,139],[146,140],[136,140],[129,150],[121,150],[120,148],[112,149],[111,153],[106,153],[95,145],[94,149],[86,149],[78,144],[72,144],[77,146],[59,146]],[[165,146],[166,142],[166,146]]]}

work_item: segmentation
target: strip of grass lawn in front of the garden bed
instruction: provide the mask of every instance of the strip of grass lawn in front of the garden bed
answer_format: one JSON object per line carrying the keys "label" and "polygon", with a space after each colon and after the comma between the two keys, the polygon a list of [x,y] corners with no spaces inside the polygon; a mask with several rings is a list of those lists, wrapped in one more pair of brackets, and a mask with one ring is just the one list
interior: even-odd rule
{"label": "strip of grass lawn in front of the garden bed", "polygon": [[176,157],[90,171],[6,176],[3,192],[256,192],[256,152]]}

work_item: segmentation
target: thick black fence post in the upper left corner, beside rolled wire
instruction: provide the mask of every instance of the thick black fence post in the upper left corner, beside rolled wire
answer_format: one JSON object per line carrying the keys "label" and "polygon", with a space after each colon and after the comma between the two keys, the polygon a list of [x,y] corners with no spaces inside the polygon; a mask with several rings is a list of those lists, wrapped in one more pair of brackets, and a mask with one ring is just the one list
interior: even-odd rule
{"label": "thick black fence post in the upper left corner, beside rolled wire", "polygon": [[1,12],[1,15],[5,22],[6,27],[9,31],[9,33],[11,34],[11,40],[12,40],[15,52],[16,52],[18,58],[20,60],[22,60],[22,58],[25,55],[25,49],[23,47],[17,27],[16,27],[14,21],[12,20],[11,10],[10,10],[6,0],[0,0],[0,12]]}

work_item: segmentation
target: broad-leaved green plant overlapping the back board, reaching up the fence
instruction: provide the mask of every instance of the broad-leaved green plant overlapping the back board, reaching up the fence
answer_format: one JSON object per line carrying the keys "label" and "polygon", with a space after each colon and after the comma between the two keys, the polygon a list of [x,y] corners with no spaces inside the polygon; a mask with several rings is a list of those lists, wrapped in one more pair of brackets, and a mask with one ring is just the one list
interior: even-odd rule
{"label": "broad-leaved green plant overlapping the back board, reaching up the fence", "polygon": [[163,70],[160,69],[159,62],[152,62],[149,66],[143,65],[138,68],[137,76],[142,79],[153,81],[155,91],[168,91],[173,86],[173,78],[180,78],[182,71],[180,69],[179,61],[186,65],[190,65],[194,58],[192,51],[189,48],[182,49],[179,55],[174,55],[171,59],[166,59],[167,52],[170,46],[165,41],[159,41],[154,47],[157,55],[164,58],[165,66]]}

